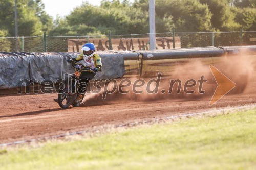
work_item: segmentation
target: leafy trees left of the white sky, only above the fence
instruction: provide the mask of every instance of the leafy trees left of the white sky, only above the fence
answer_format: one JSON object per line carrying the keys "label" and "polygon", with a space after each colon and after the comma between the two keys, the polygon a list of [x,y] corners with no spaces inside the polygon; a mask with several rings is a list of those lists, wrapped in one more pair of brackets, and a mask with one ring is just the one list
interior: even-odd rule
{"label": "leafy trees left of the white sky, only above the fence", "polygon": [[[44,11],[41,0],[17,1],[19,36],[42,35],[53,25],[52,18]],[[14,1],[0,1],[0,29],[8,30],[7,36],[15,36]]]}

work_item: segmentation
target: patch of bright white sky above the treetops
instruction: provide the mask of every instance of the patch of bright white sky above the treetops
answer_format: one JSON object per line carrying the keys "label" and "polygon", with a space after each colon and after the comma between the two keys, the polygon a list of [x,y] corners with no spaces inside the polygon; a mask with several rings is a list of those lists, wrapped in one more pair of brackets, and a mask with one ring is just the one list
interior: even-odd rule
{"label": "patch of bright white sky above the treetops", "polygon": [[[92,5],[100,5],[101,0],[86,0],[89,4]],[[45,11],[47,14],[56,19],[56,16],[59,15],[61,17],[67,16],[71,11],[77,6],[82,5],[82,2],[86,2],[85,0],[42,0],[45,4]],[[130,2],[134,2],[134,0],[130,0]]]}

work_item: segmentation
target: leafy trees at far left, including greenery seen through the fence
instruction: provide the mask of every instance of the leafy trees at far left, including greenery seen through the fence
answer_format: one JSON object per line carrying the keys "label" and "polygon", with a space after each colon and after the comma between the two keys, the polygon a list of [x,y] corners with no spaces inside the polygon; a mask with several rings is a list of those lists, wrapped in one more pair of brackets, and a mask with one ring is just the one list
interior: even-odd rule
{"label": "leafy trees at far left, including greenery seen through the fence", "polygon": [[[15,36],[15,8],[14,0],[0,1],[0,30],[1,36]],[[44,4],[41,0],[22,0],[17,1],[18,13],[18,36],[34,36],[42,35],[42,31],[48,31],[53,25],[52,18],[44,11]],[[16,39],[15,39],[16,40]],[[15,40],[5,38],[2,41],[2,51],[13,51],[16,46]],[[19,39],[20,40],[20,39]],[[26,38],[25,51],[38,51],[41,46],[42,38]],[[19,49],[21,48],[20,41],[18,42]],[[3,47],[4,46],[4,47]]]}

